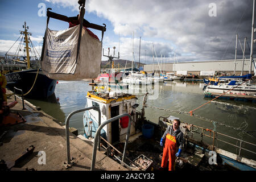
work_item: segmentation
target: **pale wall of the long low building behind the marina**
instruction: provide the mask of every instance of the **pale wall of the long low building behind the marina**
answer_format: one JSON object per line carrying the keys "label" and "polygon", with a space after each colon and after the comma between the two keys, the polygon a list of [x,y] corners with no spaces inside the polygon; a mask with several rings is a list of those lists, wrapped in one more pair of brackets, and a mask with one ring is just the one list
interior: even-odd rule
{"label": "pale wall of the long low building behind the marina", "polygon": [[[242,60],[237,60],[236,64],[236,74],[240,74],[242,71]],[[174,72],[174,71],[188,71],[188,74],[200,75],[200,71],[215,71],[215,72],[226,72],[231,75],[234,72],[234,60],[218,60],[218,61],[191,61],[185,63],[166,63],[165,66],[162,65],[162,70],[165,67],[165,72]],[[243,66],[243,75],[249,73],[250,60],[245,60]],[[159,71],[159,66],[154,65],[154,70]],[[151,73],[152,64],[144,65],[144,71]],[[251,66],[251,71],[254,73],[254,65]]]}

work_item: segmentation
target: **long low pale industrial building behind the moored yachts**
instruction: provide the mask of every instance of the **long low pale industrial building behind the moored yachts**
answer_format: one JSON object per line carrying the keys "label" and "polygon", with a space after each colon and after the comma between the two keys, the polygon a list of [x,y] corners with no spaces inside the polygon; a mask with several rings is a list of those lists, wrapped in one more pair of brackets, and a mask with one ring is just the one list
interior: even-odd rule
{"label": "long low pale industrial building behind the moored yachts", "polygon": [[[236,68],[235,68],[236,65]],[[197,75],[197,76],[209,76],[209,75],[234,75],[236,69],[236,75],[246,75],[250,70],[250,59],[236,60],[217,60],[217,61],[189,61],[181,63],[165,63],[165,64],[147,64],[144,65],[144,71],[147,73],[166,73],[171,72],[175,75]],[[242,72],[243,70],[243,72]],[[254,74],[254,64],[251,65],[251,74]]]}

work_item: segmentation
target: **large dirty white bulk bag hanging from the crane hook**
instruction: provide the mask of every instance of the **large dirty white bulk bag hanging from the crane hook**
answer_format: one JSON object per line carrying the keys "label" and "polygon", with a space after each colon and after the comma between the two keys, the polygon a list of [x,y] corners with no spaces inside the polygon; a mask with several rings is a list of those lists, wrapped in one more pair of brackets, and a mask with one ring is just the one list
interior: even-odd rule
{"label": "large dirty white bulk bag hanging from the crane hook", "polygon": [[100,74],[102,44],[82,27],[79,53],[79,25],[61,31],[47,27],[42,69],[56,80],[82,80]]}

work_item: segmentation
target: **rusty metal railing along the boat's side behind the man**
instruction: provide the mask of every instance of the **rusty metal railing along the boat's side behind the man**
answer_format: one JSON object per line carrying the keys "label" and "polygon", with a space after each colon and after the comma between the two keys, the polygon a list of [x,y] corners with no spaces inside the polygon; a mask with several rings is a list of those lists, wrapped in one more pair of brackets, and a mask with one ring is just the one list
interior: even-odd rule
{"label": "rusty metal railing along the boat's side behind the man", "polygon": [[[161,121],[160,118],[163,118],[163,121]],[[168,126],[166,123],[168,123],[167,118],[159,117],[160,127]],[[172,125],[171,123],[168,123],[168,124]],[[181,122],[180,127],[185,129],[185,133],[183,132],[185,139],[190,140],[192,142],[196,141],[196,142],[198,142],[198,144],[203,145],[203,147],[207,147],[209,150],[214,150],[214,149],[218,148],[218,141],[219,141],[219,142],[223,142],[225,144],[229,144],[230,146],[236,147],[236,149],[238,150],[237,155],[239,158],[241,158],[241,151],[247,151],[252,154],[256,154],[255,151],[251,151],[248,149],[249,146],[250,146],[250,148],[256,147],[256,144],[254,144],[254,143],[246,142],[245,140],[230,137],[229,135],[218,133],[216,131],[206,129],[204,127],[196,126],[193,124],[189,124],[189,123]],[[181,129],[181,131],[182,131],[182,129]],[[220,136],[222,136],[222,138]],[[207,137],[208,139],[205,139],[205,137]],[[226,138],[226,139],[224,139],[224,138]],[[236,144],[231,143],[231,140],[233,140]],[[244,146],[246,145],[247,147],[246,148],[242,147],[242,145],[244,145]]]}

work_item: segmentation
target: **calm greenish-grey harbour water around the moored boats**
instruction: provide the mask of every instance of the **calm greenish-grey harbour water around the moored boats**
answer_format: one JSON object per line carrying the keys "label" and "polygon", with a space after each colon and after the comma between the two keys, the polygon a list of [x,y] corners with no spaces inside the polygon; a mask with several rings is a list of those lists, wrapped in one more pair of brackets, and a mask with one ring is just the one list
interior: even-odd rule
{"label": "calm greenish-grey harbour water around the moored boats", "polygon": [[[203,82],[193,81],[166,81],[164,83],[159,83],[158,96],[152,100],[148,99],[147,105],[160,107],[167,110],[188,112],[196,109],[210,100],[209,98],[204,98],[203,87]],[[157,88],[155,88],[155,90],[156,89]],[[59,84],[56,85],[55,89],[56,98],[52,97],[44,101],[27,100],[36,106],[40,106],[44,112],[56,118],[58,122],[63,123],[64,125],[65,118],[68,117],[69,113],[85,107],[86,94],[89,90],[92,90],[92,87],[89,85],[89,81],[59,81]],[[141,111],[145,90],[146,89],[143,88],[143,86],[135,89],[129,87],[129,92],[133,92],[133,94],[138,97],[138,111]],[[191,117],[188,114],[179,114],[167,110],[147,107],[145,110],[145,116],[148,120],[158,123],[160,116],[168,117],[173,115],[180,118],[181,122],[192,123],[211,130],[214,129],[212,122]],[[219,133],[230,135],[231,137],[256,144],[255,102],[214,100],[209,104],[195,110],[193,113],[226,125],[227,127],[218,124],[215,125],[216,130]],[[70,127],[75,127],[79,130],[79,134],[83,133],[82,115],[83,113],[73,115],[71,121],[69,122]],[[249,133],[241,132],[240,130],[236,129],[249,131]],[[232,141],[230,140],[229,142]],[[239,145],[240,143],[234,142],[233,144]],[[224,149],[230,149],[230,147],[232,147],[224,143],[218,143],[218,146],[221,146]],[[250,146],[249,149],[256,151],[255,146]],[[237,149],[232,147],[231,151],[236,153]],[[256,160],[255,155],[251,154],[250,152],[244,151],[244,154],[245,156],[250,156],[251,159]]]}

